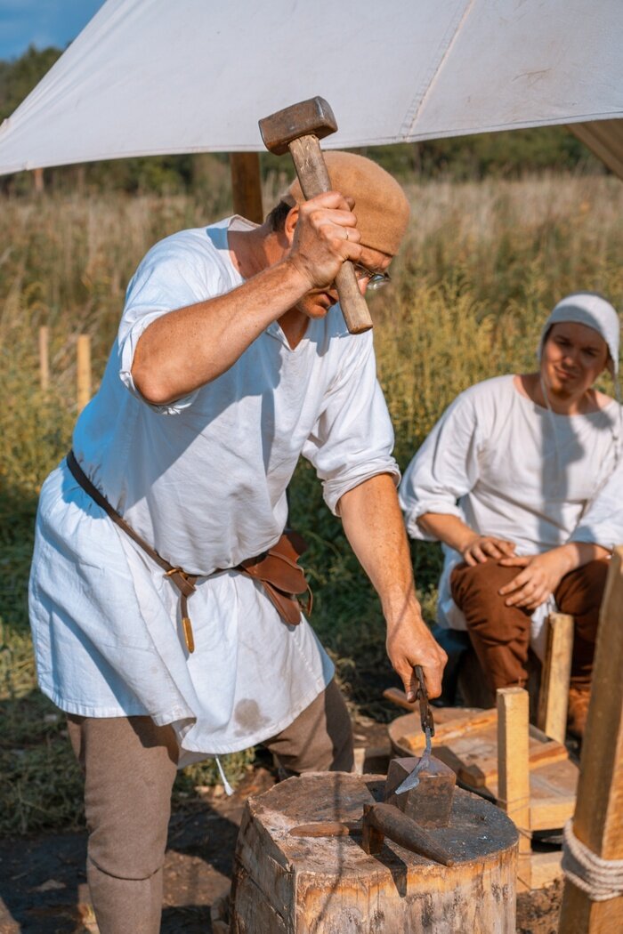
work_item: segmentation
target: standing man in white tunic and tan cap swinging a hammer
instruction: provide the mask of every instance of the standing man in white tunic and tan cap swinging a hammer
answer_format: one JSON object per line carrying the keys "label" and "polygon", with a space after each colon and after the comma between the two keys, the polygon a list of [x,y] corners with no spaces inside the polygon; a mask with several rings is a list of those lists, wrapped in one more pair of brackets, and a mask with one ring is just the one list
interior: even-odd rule
{"label": "standing man in white tunic and tan cap swinging a hammer", "polygon": [[73,457],[42,488],[37,671],[85,771],[102,934],[159,930],[177,768],[254,743],[292,774],[352,766],[333,665],[280,602],[297,591],[283,532],[301,455],[378,592],[405,689],[418,664],[440,691],[372,336],[347,333],[333,290],[345,260],[362,291],[387,278],[408,205],[375,163],[327,163],[331,192],[304,202],[293,185],[259,227],[228,218],[149,250]]}

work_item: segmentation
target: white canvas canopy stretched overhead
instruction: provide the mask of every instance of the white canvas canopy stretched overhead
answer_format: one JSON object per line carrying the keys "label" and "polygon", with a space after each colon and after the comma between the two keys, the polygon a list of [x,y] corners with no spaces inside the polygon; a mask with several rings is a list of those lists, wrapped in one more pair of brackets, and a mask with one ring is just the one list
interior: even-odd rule
{"label": "white canvas canopy stretched overhead", "polygon": [[0,127],[0,174],[262,150],[320,94],[326,148],[546,124],[623,176],[621,0],[107,0]]}

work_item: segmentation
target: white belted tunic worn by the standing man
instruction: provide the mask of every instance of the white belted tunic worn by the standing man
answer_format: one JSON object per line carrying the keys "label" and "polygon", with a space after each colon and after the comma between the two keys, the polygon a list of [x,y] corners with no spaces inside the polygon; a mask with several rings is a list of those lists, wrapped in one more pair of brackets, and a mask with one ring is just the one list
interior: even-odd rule
{"label": "white belted tunic worn by the standing man", "polygon": [[[170,405],[146,403],[131,369],[155,318],[240,285],[227,230],[163,240],[127,292],[101,389],[78,419],[74,451],[92,482],[172,564],[200,576],[189,655],[176,588],[69,474],[46,480],[36,524],[30,614],[39,683],[63,710],[173,723],[180,764],[262,742],[333,676],[309,625],[289,627],[261,587],[232,568],[279,538],[301,454],[335,512],[378,473],[398,479],[370,334],[339,308],[291,349],[273,323],[218,379]],[[209,575],[209,576],[208,576]]]}

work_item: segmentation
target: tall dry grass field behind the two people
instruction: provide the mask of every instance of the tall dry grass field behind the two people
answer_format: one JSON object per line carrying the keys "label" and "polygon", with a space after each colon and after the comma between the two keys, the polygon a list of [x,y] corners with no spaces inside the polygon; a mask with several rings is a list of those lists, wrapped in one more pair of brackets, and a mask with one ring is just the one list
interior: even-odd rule
{"label": "tall dry grass field behind the two people", "polygon": [[[613,177],[414,185],[413,219],[394,284],[371,301],[379,374],[404,466],[446,404],[471,383],[533,367],[547,310],[565,293],[601,291],[620,309],[623,186]],[[268,192],[267,201],[270,199]],[[36,498],[64,455],[76,417],[75,347],[92,335],[103,371],[136,263],[157,239],[227,213],[191,197],[4,200],[0,210],[0,833],[73,828],[80,776],[63,716],[39,695],[25,591]],[[51,386],[38,387],[37,331],[50,328]],[[607,381],[603,387],[609,391]],[[338,663],[352,703],[385,715],[391,672],[378,603],[340,524],[302,463],[291,488],[292,525],[311,543],[313,622]],[[435,545],[414,549],[428,618],[439,569]],[[230,760],[243,770],[252,754]],[[214,778],[185,771],[177,796]]]}

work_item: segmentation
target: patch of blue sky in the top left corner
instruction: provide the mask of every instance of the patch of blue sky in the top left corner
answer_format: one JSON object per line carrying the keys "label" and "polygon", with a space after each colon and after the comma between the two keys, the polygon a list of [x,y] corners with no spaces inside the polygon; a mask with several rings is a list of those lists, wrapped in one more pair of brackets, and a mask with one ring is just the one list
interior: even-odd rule
{"label": "patch of blue sky in the top left corner", "polygon": [[37,49],[64,49],[104,0],[0,0],[0,59]]}

